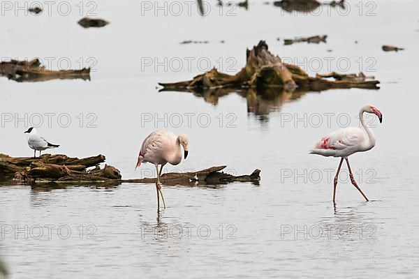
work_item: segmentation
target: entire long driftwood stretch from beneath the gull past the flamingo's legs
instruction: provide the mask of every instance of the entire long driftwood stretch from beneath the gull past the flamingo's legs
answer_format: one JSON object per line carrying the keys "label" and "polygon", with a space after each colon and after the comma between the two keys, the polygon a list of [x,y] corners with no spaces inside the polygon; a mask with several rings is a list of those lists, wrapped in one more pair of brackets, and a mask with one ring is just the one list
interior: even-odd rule
{"label": "entire long driftwood stretch from beneath the gull past the flamingo's legs", "polygon": [[[155,183],[155,178],[122,179],[121,173],[115,167],[99,164],[105,162],[105,156],[98,155],[88,158],[70,158],[65,155],[44,154],[37,158],[10,157],[0,154],[0,180],[3,182],[13,179],[14,183],[77,183],[78,185],[99,184],[102,186],[116,186],[121,183]],[[91,168],[92,169],[88,169]],[[210,167],[197,172],[172,172],[161,176],[161,183],[165,185],[193,186],[196,183],[226,184],[230,182],[252,182],[260,180],[260,170],[255,169],[249,175],[234,176],[220,172],[226,166]]]}

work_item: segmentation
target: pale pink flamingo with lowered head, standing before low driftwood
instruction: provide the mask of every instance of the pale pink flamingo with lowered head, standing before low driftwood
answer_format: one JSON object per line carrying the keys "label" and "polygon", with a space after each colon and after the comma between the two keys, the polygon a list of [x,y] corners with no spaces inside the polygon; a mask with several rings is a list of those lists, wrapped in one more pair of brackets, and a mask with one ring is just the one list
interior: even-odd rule
{"label": "pale pink flamingo with lowered head, standing before low driftwood", "polygon": [[[140,167],[141,163],[152,163],[156,166],[156,190],[158,208],[160,208],[160,193],[164,208],[166,209],[166,202],[163,197],[163,192],[161,191],[161,171],[166,163],[170,163],[170,165],[178,165],[182,161],[182,150],[180,148],[181,145],[184,149],[184,158],[186,159],[189,152],[188,137],[184,134],[176,137],[176,135],[169,130],[155,130],[145,138],[144,142],[142,142],[135,169]],[[160,171],[159,165],[161,165]]]}

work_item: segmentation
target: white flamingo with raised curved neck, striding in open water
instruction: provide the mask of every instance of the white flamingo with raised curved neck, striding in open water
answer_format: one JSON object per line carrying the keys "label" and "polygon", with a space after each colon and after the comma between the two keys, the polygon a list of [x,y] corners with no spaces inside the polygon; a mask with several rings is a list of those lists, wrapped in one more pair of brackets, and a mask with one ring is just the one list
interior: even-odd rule
{"label": "white flamingo with raised curved neck, striding in open water", "polygon": [[376,114],[380,123],[383,122],[383,114],[374,105],[364,105],[363,107],[361,107],[359,114],[360,121],[362,127],[365,129],[365,132],[367,132],[368,139],[365,136],[364,131],[360,128],[341,128],[323,137],[316,144],[314,149],[310,151],[311,154],[318,154],[327,157],[341,157],[339,167],[337,167],[335,181],[333,184],[333,203],[335,203],[336,197],[337,177],[339,175],[344,159],[346,160],[346,165],[348,165],[351,183],[353,184],[353,186],[355,186],[355,188],[358,189],[358,191],[360,191],[361,195],[365,198],[365,200],[367,202],[369,201],[367,196],[362,192],[361,188],[358,186],[358,183],[356,183],[355,179],[353,178],[351,166],[349,165],[348,160],[348,156],[351,156],[353,153],[368,151],[372,149],[376,144],[376,137],[374,133],[372,133],[371,128],[365,125],[364,112]]}

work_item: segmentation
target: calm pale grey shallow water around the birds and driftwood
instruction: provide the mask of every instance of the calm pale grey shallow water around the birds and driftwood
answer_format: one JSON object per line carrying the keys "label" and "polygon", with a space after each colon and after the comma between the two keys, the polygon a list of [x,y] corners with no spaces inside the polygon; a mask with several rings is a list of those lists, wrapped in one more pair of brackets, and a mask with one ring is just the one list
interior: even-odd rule
{"label": "calm pale grey shallow water around the birds and driftwood", "polygon": [[[259,185],[163,186],[168,209],[159,214],[152,184],[1,186],[0,254],[10,278],[418,276],[419,162],[412,133],[418,100],[416,1],[361,2],[362,15],[358,1],[348,1],[348,15],[335,9],[294,15],[251,1],[249,10],[237,7],[234,16],[213,8],[207,17],[186,11],[155,16],[154,10],[141,16],[136,1],[118,6],[103,1],[95,10],[110,21],[103,29],[78,26],[76,2],[70,2],[68,16],[53,10],[51,16],[1,17],[3,57],[54,57],[50,68],[55,69],[59,59],[71,61],[73,68],[80,68],[80,61],[96,63],[90,81],[17,83],[1,77],[2,120],[13,117],[1,123],[1,153],[31,156],[23,135],[30,123],[16,119],[27,114],[27,122],[36,121],[41,114],[38,132],[61,144],[52,153],[103,153],[126,179],[152,176],[152,165],[134,172],[136,156],[142,139],[166,126],[186,133],[190,142],[189,157],[167,171],[225,164],[233,174],[260,168],[262,179]],[[376,15],[367,16],[366,10]],[[327,44],[277,41],[323,33]],[[179,44],[190,39],[210,43]],[[258,114],[248,112],[247,99],[238,93],[205,102],[192,93],[156,89],[158,82],[188,80],[209,70],[196,63],[200,59],[235,73],[245,63],[245,49],[260,39],[311,75],[319,65],[322,73],[362,70],[376,76],[381,89],[306,93],[296,100],[279,96],[262,100]],[[406,50],[383,52],[383,44]],[[165,57],[182,61],[182,68],[170,62],[167,69],[156,66],[155,59]],[[194,59],[190,69],[189,57]],[[146,66],[150,59],[152,65]],[[376,147],[351,157],[355,178],[372,202],[362,201],[343,172],[334,209],[332,176],[339,160],[307,151],[331,130],[358,126],[364,103],[383,112],[381,125],[368,119],[375,126]],[[50,127],[47,113],[55,114]],[[65,116],[58,121],[60,114]]]}

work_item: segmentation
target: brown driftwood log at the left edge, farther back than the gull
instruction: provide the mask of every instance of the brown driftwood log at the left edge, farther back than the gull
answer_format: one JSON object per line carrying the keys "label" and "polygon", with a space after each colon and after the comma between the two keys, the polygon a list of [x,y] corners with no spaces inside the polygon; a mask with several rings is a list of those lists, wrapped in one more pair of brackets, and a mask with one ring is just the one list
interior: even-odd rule
{"label": "brown driftwood log at the left edge, farther back than the gull", "polygon": [[46,70],[39,59],[30,61],[3,61],[0,63],[0,75],[17,82],[44,82],[47,80],[82,79],[90,80],[90,68],[82,70]]}

